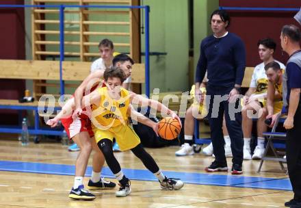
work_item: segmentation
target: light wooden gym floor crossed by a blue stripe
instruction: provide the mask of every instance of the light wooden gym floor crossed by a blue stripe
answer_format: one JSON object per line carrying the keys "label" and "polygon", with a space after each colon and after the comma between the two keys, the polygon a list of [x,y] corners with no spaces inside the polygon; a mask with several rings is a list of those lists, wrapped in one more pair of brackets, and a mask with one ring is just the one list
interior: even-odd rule
{"label": "light wooden gym floor crossed by a blue stripe", "polygon": [[[77,152],[68,152],[60,143],[31,142],[23,147],[16,139],[1,139],[0,207],[284,207],[293,196],[287,175],[277,162],[265,162],[260,173],[256,172],[259,161],[244,161],[242,176],[230,172],[207,174],[204,168],[213,157],[175,157],[178,149],[172,146],[147,151],[168,177],[181,177],[186,182],[181,190],[160,190],[155,177],[131,152],[115,153],[131,179],[132,194],[116,198],[116,187],[93,192],[93,201],[81,201],[68,198]],[[231,165],[228,158],[228,167]],[[92,159],[88,166],[90,175]],[[107,166],[103,174],[116,183]],[[84,179],[85,185],[88,179]]]}

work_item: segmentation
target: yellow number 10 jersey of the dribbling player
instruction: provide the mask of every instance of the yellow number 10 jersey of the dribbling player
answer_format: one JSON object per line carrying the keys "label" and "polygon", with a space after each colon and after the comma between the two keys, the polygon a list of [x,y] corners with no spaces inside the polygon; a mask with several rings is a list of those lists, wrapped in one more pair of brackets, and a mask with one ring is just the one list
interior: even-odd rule
{"label": "yellow number 10 jersey of the dribbling player", "polygon": [[[117,127],[127,124],[127,109],[129,108],[129,91],[120,88],[120,99],[112,99],[107,87],[97,88],[101,96],[99,105],[92,105],[92,123],[94,127]],[[96,121],[96,124],[94,123]]]}

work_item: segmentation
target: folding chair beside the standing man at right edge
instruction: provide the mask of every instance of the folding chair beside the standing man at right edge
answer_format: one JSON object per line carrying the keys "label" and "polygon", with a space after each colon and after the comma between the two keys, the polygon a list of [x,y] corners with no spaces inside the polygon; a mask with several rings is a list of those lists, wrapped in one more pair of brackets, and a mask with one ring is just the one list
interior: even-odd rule
{"label": "folding chair beside the standing man at right edge", "polygon": [[[276,127],[278,126],[279,121],[283,121],[283,118],[281,118],[281,117],[284,115],[285,114],[283,114],[283,113],[278,114],[276,121],[275,121],[275,125],[272,128],[272,131],[263,133],[265,138],[267,138],[267,146],[265,146],[265,151],[263,153],[263,157],[261,159],[261,162],[260,162],[257,172],[260,172],[261,167],[263,165],[263,161],[265,161],[265,160],[278,161],[280,164],[281,170],[285,169],[285,167],[283,166],[283,163],[286,163],[287,159],[284,159],[282,156],[280,156],[278,154],[278,151],[276,151],[276,149],[274,148],[274,144],[273,144],[274,139],[285,139],[287,136],[287,134],[284,132],[276,132]],[[272,152],[274,154],[273,156],[267,156],[267,151],[269,149],[272,149]]]}

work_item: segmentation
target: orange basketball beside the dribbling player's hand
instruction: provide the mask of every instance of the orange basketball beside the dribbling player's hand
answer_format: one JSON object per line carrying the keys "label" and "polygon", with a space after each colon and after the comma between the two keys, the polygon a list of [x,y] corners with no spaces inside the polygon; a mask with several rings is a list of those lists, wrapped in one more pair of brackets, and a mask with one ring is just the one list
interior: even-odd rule
{"label": "orange basketball beside the dribbling player's hand", "polygon": [[180,122],[174,118],[166,117],[159,122],[159,136],[166,140],[175,139],[181,131]]}

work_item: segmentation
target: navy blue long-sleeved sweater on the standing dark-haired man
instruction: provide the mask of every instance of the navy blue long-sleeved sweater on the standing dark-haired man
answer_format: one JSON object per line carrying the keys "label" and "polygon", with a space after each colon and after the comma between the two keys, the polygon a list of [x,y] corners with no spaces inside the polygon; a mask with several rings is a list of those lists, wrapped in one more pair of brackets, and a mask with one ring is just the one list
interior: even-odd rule
{"label": "navy blue long-sleeved sweater on the standing dark-haired man", "polygon": [[200,57],[196,66],[196,82],[202,82],[206,70],[209,84],[230,87],[241,85],[246,68],[246,49],[235,34],[222,38],[208,36],[200,43]]}

